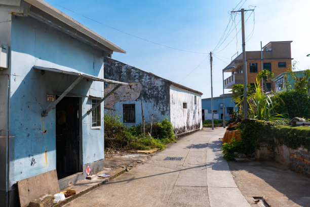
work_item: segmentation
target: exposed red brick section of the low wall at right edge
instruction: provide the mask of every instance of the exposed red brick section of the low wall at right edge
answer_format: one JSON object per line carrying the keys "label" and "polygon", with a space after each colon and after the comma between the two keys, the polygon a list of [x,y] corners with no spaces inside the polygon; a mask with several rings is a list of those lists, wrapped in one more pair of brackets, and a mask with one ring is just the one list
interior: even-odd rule
{"label": "exposed red brick section of the low wall at right edge", "polygon": [[310,178],[310,152],[304,148],[288,149],[290,152],[289,168]]}

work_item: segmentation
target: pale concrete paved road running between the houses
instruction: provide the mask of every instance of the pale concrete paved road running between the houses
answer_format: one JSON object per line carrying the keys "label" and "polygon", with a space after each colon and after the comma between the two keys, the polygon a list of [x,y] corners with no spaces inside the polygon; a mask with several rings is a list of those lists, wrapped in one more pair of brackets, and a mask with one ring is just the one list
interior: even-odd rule
{"label": "pale concrete paved road running between the houses", "polygon": [[184,136],[65,206],[250,206],[222,158],[218,139],[224,130],[204,129]]}

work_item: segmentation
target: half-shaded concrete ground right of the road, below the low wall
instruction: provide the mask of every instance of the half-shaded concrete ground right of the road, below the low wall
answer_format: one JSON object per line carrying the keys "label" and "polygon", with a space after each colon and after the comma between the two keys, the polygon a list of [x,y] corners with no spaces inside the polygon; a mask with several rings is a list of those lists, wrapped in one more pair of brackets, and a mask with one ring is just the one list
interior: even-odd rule
{"label": "half-shaded concrete ground right of the road, below the low wall", "polygon": [[276,206],[291,201],[301,206],[310,206],[310,179],[275,162],[229,161],[228,164],[236,184],[245,196],[268,197],[279,204]]}

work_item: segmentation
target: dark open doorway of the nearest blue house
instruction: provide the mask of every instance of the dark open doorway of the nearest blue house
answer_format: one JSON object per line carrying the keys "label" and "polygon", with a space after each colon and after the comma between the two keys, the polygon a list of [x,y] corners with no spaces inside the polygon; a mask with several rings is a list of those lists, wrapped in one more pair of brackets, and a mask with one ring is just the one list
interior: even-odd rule
{"label": "dark open doorway of the nearest blue house", "polygon": [[56,170],[58,179],[79,171],[80,98],[64,97],[56,105]]}

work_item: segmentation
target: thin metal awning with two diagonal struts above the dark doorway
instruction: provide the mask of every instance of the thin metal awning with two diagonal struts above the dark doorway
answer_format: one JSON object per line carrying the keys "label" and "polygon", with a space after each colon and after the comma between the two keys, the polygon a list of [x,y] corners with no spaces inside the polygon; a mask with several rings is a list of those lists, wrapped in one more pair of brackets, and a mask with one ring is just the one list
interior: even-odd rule
{"label": "thin metal awning with two diagonal struts above the dark doorway", "polygon": [[63,71],[63,70],[59,70],[56,68],[41,67],[41,66],[36,66],[36,65],[34,65],[33,68],[35,70],[38,70],[38,71],[43,71],[43,72],[49,71],[49,72],[67,74],[70,76],[78,77],[77,79],[75,79],[75,81],[73,81],[73,83],[71,83],[71,85],[64,92],[62,92],[62,94],[54,102],[51,102],[49,104],[47,109],[43,110],[43,112],[41,114],[41,116],[43,116],[43,117],[47,116],[49,111],[51,111],[51,109],[53,109],[57,105],[57,103],[59,103],[59,101],[64,96],[66,96],[74,88],[74,86],[76,86],[83,78],[87,79],[87,80],[91,80],[91,81],[101,81],[101,82],[108,82],[108,83],[117,84],[108,94],[106,94],[100,101],[98,101],[95,106],[93,106],[90,110],[87,111],[88,114],[91,113],[93,110],[95,110],[109,95],[111,95],[119,87],[121,87],[122,85],[128,85],[128,83],[124,83],[124,82],[113,81],[113,80],[104,79],[104,78],[98,78],[96,76],[91,76],[91,75],[87,75],[87,74],[83,74],[83,73]]}

